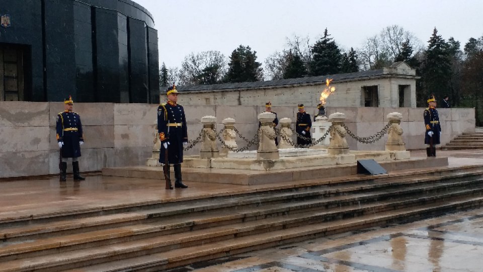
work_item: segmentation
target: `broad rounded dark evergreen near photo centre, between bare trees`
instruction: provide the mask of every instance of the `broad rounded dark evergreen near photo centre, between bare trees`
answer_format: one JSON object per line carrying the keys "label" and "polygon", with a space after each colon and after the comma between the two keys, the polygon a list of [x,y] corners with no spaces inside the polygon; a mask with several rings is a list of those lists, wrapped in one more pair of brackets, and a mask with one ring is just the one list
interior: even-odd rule
{"label": "broad rounded dark evergreen near photo centre, between bare trees", "polygon": [[261,63],[257,61],[257,51],[252,52],[250,46],[240,45],[233,50],[228,63],[225,82],[253,82],[262,78]]}

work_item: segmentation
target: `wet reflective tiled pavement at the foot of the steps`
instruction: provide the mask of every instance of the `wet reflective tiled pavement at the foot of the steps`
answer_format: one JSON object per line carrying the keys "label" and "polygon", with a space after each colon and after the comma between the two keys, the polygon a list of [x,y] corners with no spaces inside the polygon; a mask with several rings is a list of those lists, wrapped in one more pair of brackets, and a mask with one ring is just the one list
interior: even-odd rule
{"label": "wet reflective tiled pavement at the foot of the steps", "polygon": [[483,209],[348,232],[170,271],[483,271]]}

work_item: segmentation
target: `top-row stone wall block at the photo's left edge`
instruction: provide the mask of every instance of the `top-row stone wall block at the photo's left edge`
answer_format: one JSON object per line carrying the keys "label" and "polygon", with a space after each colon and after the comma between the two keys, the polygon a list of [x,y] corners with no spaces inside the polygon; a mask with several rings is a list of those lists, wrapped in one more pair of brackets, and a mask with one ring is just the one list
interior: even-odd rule
{"label": "top-row stone wall block at the photo's left edge", "polygon": [[[48,126],[49,103],[46,102],[0,102],[0,127]],[[2,134],[2,137],[5,134]]]}

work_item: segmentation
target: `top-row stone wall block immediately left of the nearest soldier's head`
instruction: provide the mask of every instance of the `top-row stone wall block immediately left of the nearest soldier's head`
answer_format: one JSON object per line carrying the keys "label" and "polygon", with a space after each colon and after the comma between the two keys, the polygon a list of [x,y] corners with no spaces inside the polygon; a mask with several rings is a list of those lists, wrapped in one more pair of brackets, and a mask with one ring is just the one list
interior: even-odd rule
{"label": "top-row stone wall block immediately left of the nearest soldier's head", "polygon": [[114,125],[153,125],[157,123],[156,104],[114,104]]}

